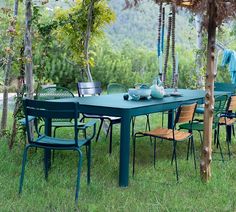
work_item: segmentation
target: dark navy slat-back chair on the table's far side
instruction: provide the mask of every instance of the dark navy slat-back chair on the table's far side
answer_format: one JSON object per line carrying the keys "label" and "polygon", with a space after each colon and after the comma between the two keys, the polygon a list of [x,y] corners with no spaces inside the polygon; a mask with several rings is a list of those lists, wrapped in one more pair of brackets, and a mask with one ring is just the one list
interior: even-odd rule
{"label": "dark navy slat-back chair on the table's far side", "polygon": [[[77,89],[78,89],[79,97],[96,96],[102,93],[101,82],[78,82]],[[100,135],[104,121],[107,120],[109,122],[109,127],[108,127],[108,130],[110,131],[109,154],[111,154],[112,153],[112,126],[113,124],[119,124],[121,122],[121,118],[112,117],[112,116],[83,114],[83,117],[80,121],[83,122],[85,118],[96,118],[96,119],[100,119],[101,121],[98,128],[96,141],[98,141],[99,139],[99,135]],[[107,135],[108,135],[108,132],[107,132]]]}

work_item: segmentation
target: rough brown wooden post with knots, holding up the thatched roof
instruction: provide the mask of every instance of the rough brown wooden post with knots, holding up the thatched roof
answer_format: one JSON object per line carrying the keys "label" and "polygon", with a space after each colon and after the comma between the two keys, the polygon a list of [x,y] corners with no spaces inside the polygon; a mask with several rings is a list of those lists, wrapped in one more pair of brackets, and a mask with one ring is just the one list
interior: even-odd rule
{"label": "rough brown wooden post with knots, holding up the thatched roof", "polygon": [[207,46],[207,73],[206,73],[206,96],[204,112],[204,142],[201,155],[200,171],[203,181],[211,177],[212,160],[212,122],[214,111],[214,79],[215,79],[215,39],[216,39],[216,16],[217,7],[215,0],[208,1],[208,46]]}

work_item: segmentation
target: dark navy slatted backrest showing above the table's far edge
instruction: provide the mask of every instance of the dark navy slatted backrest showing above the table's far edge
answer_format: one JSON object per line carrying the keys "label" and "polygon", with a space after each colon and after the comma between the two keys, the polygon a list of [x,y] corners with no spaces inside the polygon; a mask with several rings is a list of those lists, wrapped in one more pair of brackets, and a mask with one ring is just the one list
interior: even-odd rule
{"label": "dark navy slatted backrest showing above the table's far edge", "polygon": [[78,82],[78,95],[82,96],[96,96],[102,93],[101,82]]}

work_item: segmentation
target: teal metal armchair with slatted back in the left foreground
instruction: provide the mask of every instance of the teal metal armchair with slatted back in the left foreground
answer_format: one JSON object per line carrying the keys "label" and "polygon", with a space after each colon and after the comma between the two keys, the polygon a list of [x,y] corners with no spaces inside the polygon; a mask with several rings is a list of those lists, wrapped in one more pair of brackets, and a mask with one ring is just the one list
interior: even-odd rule
{"label": "teal metal armchair with slatted back in the left foreground", "polygon": [[[77,181],[76,181],[76,191],[75,191],[75,201],[78,202],[78,195],[80,189],[80,172],[82,167],[82,151],[81,147],[87,147],[87,183],[90,183],[90,163],[91,163],[91,140],[95,136],[96,132],[96,122],[91,120],[81,128],[86,130],[89,127],[93,127],[93,132],[89,137],[83,139],[78,138],[78,123],[77,119],[79,118],[79,106],[76,103],[68,102],[47,102],[47,101],[38,101],[38,100],[23,100],[24,113],[26,117],[26,129],[29,143],[26,145],[23,154],[22,160],[22,170],[20,176],[20,186],[19,193],[22,192],[25,165],[27,160],[27,152],[29,148],[37,147],[44,150],[75,150],[79,153],[78,160],[78,172],[77,172]],[[30,116],[34,116],[35,119],[35,130],[37,135],[30,134]],[[46,122],[52,119],[73,119],[74,121],[74,135],[72,139],[62,139],[51,137],[45,133],[40,133],[38,129],[38,120],[44,120],[45,126]],[[46,129],[45,129],[46,131]],[[47,178],[47,168],[45,166],[45,177]]]}

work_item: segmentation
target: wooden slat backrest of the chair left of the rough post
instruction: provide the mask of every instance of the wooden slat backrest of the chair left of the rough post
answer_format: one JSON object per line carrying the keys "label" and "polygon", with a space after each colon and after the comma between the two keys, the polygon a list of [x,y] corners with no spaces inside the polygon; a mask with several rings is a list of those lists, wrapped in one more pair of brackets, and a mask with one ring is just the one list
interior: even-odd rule
{"label": "wooden slat backrest of the chair left of the rough post", "polygon": [[175,123],[177,124],[177,123],[192,122],[196,107],[197,103],[181,105],[176,114]]}

